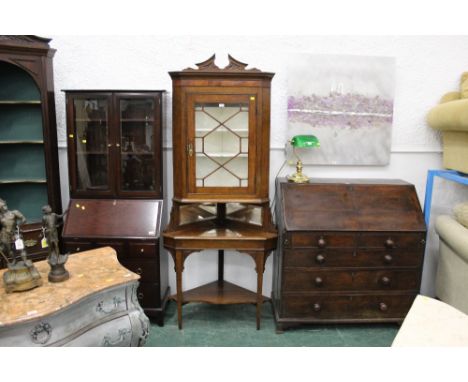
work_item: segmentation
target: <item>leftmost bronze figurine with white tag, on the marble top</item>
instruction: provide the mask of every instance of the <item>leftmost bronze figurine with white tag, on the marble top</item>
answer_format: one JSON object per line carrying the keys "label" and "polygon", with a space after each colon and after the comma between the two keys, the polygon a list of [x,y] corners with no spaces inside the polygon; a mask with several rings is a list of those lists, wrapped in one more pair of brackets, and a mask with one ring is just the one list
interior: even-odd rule
{"label": "leftmost bronze figurine with white tag, on the marble top", "polygon": [[[8,270],[3,274],[3,283],[7,293],[21,292],[42,285],[41,275],[27,259],[19,226],[26,222],[24,215],[8,209],[6,202],[0,199],[0,254],[5,258]],[[21,260],[17,260],[19,252]]]}

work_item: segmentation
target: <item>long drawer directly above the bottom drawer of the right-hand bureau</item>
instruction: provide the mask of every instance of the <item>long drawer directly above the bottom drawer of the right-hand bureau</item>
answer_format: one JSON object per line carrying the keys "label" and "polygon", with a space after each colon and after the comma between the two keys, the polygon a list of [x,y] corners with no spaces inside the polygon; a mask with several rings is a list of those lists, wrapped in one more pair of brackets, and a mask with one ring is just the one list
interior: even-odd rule
{"label": "long drawer directly above the bottom drawer of the right-hand bureau", "polygon": [[285,270],[288,291],[419,290],[418,270]]}

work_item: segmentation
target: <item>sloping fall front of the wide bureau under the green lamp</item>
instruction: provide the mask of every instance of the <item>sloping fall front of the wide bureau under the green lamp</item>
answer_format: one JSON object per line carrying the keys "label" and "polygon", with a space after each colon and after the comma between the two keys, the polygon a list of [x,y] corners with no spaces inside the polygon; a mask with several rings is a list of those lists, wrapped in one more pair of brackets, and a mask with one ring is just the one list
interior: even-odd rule
{"label": "sloping fall front of the wide bureau under the green lamp", "polygon": [[398,179],[278,181],[291,231],[425,231],[414,186]]}

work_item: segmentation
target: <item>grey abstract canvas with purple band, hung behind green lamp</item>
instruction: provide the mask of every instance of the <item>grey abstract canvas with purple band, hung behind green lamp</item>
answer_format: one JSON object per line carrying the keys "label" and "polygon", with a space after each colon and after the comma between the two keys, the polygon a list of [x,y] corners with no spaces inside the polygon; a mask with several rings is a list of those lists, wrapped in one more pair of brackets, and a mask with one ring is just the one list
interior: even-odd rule
{"label": "grey abstract canvas with purple band, hung behind green lamp", "polygon": [[289,137],[321,143],[301,151],[303,163],[388,164],[394,58],[298,54],[288,62]]}

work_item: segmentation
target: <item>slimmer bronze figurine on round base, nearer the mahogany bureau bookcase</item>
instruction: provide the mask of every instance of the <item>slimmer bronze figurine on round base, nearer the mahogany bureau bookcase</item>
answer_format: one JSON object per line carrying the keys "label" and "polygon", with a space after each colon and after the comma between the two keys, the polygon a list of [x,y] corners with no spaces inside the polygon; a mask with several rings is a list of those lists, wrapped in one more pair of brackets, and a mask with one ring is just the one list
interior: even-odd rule
{"label": "slimmer bronze figurine on round base, nearer the mahogany bureau bookcase", "polygon": [[65,269],[68,254],[60,254],[57,231],[57,228],[62,225],[63,217],[67,212],[65,211],[62,215],[56,214],[55,212],[52,212],[52,208],[49,205],[42,207],[42,212],[42,229],[44,232],[42,246],[47,246],[48,248],[49,256],[47,257],[47,262],[51,268],[48,279],[53,283],[68,280],[70,278],[70,274]]}

